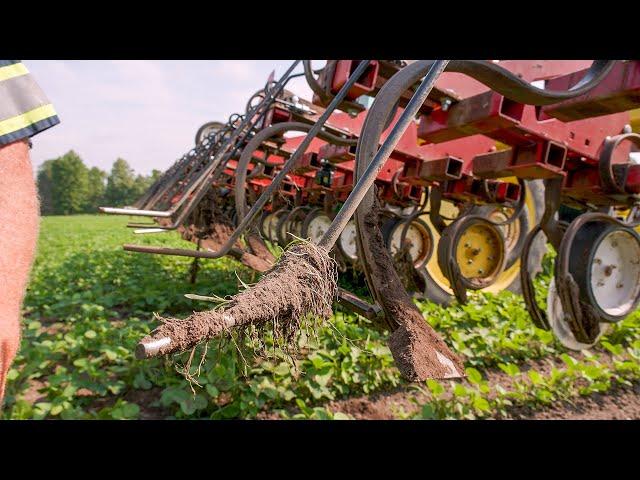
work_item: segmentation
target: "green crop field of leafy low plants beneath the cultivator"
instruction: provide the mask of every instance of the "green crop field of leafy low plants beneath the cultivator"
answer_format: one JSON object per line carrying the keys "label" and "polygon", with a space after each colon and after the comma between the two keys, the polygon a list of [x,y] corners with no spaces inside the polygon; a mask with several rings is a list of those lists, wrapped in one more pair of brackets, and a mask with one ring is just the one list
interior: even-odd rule
{"label": "green crop field of leafy low plants beneath the cultivator", "polygon": [[[637,313],[578,354],[535,328],[520,297],[503,292],[475,295],[463,307],[419,304],[464,356],[464,381],[408,384],[393,366],[386,332],[338,312],[300,336],[294,361],[270,348],[269,338],[266,355],[255,355],[248,338],[210,342],[199,372],[202,350],[195,353],[190,382],[179,371],[188,354],[134,359],[137,341],[156,325],[153,312],[186,316],[211,304],[184,294],[229,295],[257,277],[233,260],[203,261],[191,285],[190,259],[127,253],[121,245],[193,245],[174,233],[134,238],[128,220],[43,219],[0,418],[340,419],[351,417],[349,399],[385,396],[397,418],[511,417],[624,390],[640,378]],[[547,275],[549,266],[547,259]]]}

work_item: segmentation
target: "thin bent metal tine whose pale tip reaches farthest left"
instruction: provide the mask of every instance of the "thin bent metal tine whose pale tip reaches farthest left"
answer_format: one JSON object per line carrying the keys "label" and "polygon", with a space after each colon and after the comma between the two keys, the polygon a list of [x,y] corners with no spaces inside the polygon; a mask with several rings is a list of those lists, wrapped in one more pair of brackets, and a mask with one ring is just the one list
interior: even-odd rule
{"label": "thin bent metal tine whose pale tip reaches farthest left", "polygon": [[[200,197],[202,190],[208,188],[207,179],[216,170],[218,165],[221,163],[221,160],[223,159],[223,157],[225,157],[225,154],[228,153],[231,146],[235,143],[235,141],[238,139],[238,137],[240,137],[242,133],[245,133],[245,137],[246,135],[248,135],[248,130],[246,130],[246,127],[252,124],[252,122],[255,122],[258,120],[257,118],[255,118],[256,115],[263,114],[266,111],[267,107],[273,102],[275,97],[284,88],[284,85],[286,84],[291,72],[293,72],[293,70],[298,66],[298,63],[300,63],[300,60],[295,60],[291,64],[291,66],[287,69],[287,71],[282,75],[282,77],[278,80],[278,83],[269,92],[269,94],[266,95],[265,98],[258,105],[256,105],[256,107],[251,112],[249,112],[248,115],[246,115],[246,117],[241,122],[241,124],[233,131],[233,133],[226,140],[222,148],[216,153],[216,155],[214,156],[210,164],[203,171],[199,172],[200,173],[199,178],[194,182],[192,182],[187,187],[186,191],[182,194],[181,198],[178,200],[178,202],[176,202],[175,205],[173,205],[173,207],[170,210],[166,210],[163,212],[158,212],[155,210],[137,210],[138,213],[132,213],[134,211],[133,209],[131,209],[131,211],[129,212],[123,212],[123,210],[126,210],[126,209],[102,207],[100,208],[100,211],[104,213],[114,213],[116,215],[171,217],[180,210],[180,208],[184,205],[184,203],[187,201],[187,199],[191,196],[192,193],[195,192],[196,194],[195,196]],[[193,204],[191,204],[191,206],[192,205]],[[189,208],[188,210],[190,212],[191,208]],[[187,212],[187,214],[189,212]],[[158,213],[162,213],[162,214],[158,215]],[[186,214],[184,216],[186,216]],[[183,218],[183,215],[181,215],[181,218]],[[175,223],[177,225],[175,225],[174,229],[177,228],[177,226],[180,224],[178,222],[175,222]]]}

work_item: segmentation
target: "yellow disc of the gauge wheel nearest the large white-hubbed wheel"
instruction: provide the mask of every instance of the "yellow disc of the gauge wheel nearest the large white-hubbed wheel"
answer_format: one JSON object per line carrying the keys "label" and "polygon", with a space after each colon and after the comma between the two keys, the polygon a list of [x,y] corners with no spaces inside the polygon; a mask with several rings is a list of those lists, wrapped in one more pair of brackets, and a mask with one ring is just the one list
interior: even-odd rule
{"label": "yellow disc of the gauge wheel nearest the large white-hubbed wheel", "polygon": [[467,280],[486,283],[502,270],[504,251],[504,241],[496,228],[475,223],[460,234],[456,262]]}

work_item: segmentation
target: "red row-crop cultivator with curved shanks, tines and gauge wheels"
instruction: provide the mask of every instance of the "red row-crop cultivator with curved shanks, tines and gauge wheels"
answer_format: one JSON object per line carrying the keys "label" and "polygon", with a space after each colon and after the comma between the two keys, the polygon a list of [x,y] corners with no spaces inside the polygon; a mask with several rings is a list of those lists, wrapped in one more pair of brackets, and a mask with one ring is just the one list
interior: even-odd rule
{"label": "red row-crop cultivator with curved shanks, tines and gauge wheels", "polygon": [[[310,101],[285,88],[302,75]],[[510,289],[537,327],[578,350],[635,310],[638,108],[637,61],[297,60],[243,114],[203,125],[134,205],[101,210],[152,217],[129,227],[197,245],[126,250],[229,255],[265,279],[289,268],[270,245],[306,239],[366,282],[370,300],[342,288],[335,300],[391,332],[405,376],[458,377],[460,360],[412,297],[464,303],[469,291]],[[547,244],[557,256],[544,309],[533,279]],[[190,343],[159,328],[136,354],[238,327],[233,311]]]}

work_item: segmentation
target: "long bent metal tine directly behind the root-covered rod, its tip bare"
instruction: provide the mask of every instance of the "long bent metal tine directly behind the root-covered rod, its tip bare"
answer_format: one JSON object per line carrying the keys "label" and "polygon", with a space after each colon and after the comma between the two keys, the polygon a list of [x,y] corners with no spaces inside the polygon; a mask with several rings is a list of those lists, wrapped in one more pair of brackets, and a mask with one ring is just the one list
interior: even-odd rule
{"label": "long bent metal tine directly behind the root-covered rod, its tip bare", "polygon": [[[249,210],[249,213],[245,215],[245,217],[242,219],[242,222],[240,222],[240,225],[238,225],[238,227],[233,231],[231,236],[227,239],[226,243],[222,247],[220,247],[219,250],[215,252],[213,251],[198,252],[198,256],[200,258],[213,258],[213,259],[221,258],[225,256],[227,253],[229,253],[232,246],[240,238],[240,235],[242,235],[242,233],[244,233],[244,231],[249,227],[249,225],[251,224],[251,222],[253,222],[253,220],[258,215],[258,213],[262,212],[262,209],[266,205],[267,201],[269,201],[269,199],[275,193],[276,189],[279,188],[280,184],[282,183],[282,180],[284,180],[284,178],[289,174],[289,171],[293,168],[293,166],[298,163],[299,158],[305,153],[307,148],[309,148],[309,145],[311,144],[313,139],[316,137],[316,135],[318,135],[320,130],[324,127],[324,124],[329,119],[333,111],[338,107],[338,105],[346,97],[347,92],[349,92],[351,87],[364,74],[366,69],[369,67],[370,63],[371,63],[371,60],[363,60],[360,62],[358,67],[353,72],[353,75],[349,77],[349,80],[347,80],[347,82],[342,86],[342,88],[336,94],[336,96],[333,97],[333,100],[327,106],[327,109],[322,113],[322,115],[320,116],[318,121],[313,125],[313,127],[311,127],[311,130],[309,130],[309,133],[307,134],[305,139],[302,141],[302,143],[298,146],[298,148],[293,153],[293,155],[291,155],[291,157],[289,157],[289,160],[287,160],[287,162],[282,166],[282,170],[278,172],[278,174],[273,179],[273,181],[269,184],[269,186],[265,189],[265,191],[262,192],[262,195],[260,195],[256,203],[251,207],[251,210]],[[199,201],[199,199],[194,197],[194,200],[191,203],[195,204],[197,201]],[[174,224],[171,225],[171,227],[164,227],[164,228],[168,228],[168,229],[172,227],[174,229],[177,228],[178,225],[182,223],[182,220],[184,220],[186,215],[188,215],[188,213],[189,212],[187,212],[185,209],[185,211],[181,213],[180,218],[176,220],[176,222],[174,222]],[[143,245],[125,245],[124,249],[129,251],[142,252],[142,253],[157,253],[156,248],[147,247]],[[181,250],[181,252],[183,252],[181,254],[188,255],[187,252],[191,252],[191,251],[192,250]]]}

